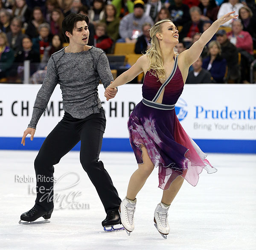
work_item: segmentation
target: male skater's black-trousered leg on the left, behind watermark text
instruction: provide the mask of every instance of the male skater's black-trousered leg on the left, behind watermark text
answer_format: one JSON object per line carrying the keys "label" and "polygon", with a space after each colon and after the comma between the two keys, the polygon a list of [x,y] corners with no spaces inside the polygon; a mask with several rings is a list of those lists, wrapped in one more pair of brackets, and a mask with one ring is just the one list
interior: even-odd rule
{"label": "male skater's black-trousered leg on the left, behind watermark text", "polygon": [[35,158],[37,179],[35,207],[44,211],[53,208],[53,165],[57,164],[80,141],[72,122],[64,119],[47,136]]}

